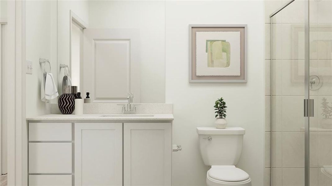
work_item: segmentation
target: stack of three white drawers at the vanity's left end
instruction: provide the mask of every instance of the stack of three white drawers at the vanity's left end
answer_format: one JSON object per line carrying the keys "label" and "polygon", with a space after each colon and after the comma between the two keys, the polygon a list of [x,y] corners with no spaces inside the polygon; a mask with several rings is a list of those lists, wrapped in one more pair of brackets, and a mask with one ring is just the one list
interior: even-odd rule
{"label": "stack of three white drawers at the vanity's left end", "polygon": [[72,123],[29,123],[29,186],[72,185]]}

